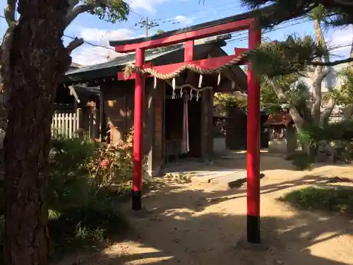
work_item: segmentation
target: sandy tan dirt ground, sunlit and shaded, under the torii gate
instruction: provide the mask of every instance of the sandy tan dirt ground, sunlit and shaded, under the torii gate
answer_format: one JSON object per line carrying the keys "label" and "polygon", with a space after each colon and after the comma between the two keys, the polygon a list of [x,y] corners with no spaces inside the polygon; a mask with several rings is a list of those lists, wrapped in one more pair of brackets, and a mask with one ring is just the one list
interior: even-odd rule
{"label": "sandy tan dirt ground, sunlit and shaded, under the torii gate", "polygon": [[[219,163],[246,165],[244,158]],[[261,155],[261,170],[261,245],[245,242],[246,187],[228,189],[197,177],[189,184],[163,180],[143,199],[144,211],[126,205],[133,228],[128,238],[100,254],[78,255],[77,263],[60,264],[353,264],[353,220],[295,211],[277,201],[292,189],[333,185],[328,177],[353,179],[353,167],[294,171],[283,158]]]}

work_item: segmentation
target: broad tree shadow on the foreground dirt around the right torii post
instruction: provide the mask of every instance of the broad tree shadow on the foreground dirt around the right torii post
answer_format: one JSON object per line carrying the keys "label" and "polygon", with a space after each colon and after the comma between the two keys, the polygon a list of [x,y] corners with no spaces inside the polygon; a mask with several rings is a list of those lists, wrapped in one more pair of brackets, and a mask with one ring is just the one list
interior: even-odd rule
{"label": "broad tree shadow on the foreground dirt around the right torii post", "polygon": [[[121,249],[118,252],[114,249],[105,254],[105,258],[110,264],[130,264],[133,261],[136,263],[132,264],[139,264],[142,260],[145,264],[214,265],[234,264],[234,261],[237,264],[349,264],[318,257],[308,249],[341,235],[353,235],[349,228],[337,225],[335,218],[262,218],[263,242],[251,246],[243,241],[245,216],[209,213],[178,217],[183,220],[174,218],[164,224],[164,218],[173,218],[169,213],[168,217],[158,221],[158,225],[148,225],[148,221],[140,220],[140,225],[148,225],[148,231],[138,229],[141,227],[137,225],[135,237],[128,239],[139,250],[132,248],[132,251],[122,253]],[[325,236],[328,233],[330,235]],[[161,238],[156,240],[158,236]],[[325,249],[320,254],[334,251]],[[338,259],[337,256],[334,258]]]}

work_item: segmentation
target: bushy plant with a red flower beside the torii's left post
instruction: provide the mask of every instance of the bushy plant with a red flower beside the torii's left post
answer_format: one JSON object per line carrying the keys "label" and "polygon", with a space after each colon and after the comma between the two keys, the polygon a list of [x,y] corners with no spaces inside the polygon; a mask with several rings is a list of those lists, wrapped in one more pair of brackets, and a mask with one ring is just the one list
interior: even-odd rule
{"label": "bushy plant with a red flower beside the torii's left post", "polygon": [[132,179],[133,130],[119,143],[102,145],[88,161],[90,177],[99,186],[122,184]]}

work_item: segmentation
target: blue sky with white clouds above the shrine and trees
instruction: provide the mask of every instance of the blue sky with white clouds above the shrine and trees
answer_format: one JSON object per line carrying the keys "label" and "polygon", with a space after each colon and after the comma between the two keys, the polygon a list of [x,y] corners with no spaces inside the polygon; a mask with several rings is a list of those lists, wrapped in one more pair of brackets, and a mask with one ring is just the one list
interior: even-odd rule
{"label": "blue sky with white clouds above the shrine and trees", "polygon": [[[107,57],[116,57],[116,53],[109,47],[109,40],[121,40],[139,37],[144,30],[135,24],[141,18],[158,23],[159,26],[150,29],[150,34],[155,34],[158,29],[173,30],[184,28],[210,20],[225,18],[246,11],[238,0],[206,0],[205,4],[198,4],[198,0],[127,0],[131,5],[131,14],[124,23],[111,24],[100,20],[90,14],[81,14],[66,29],[66,35],[83,37],[86,42],[76,49],[72,56],[78,64],[95,64],[107,61]],[[202,1],[201,1],[202,2]],[[6,0],[0,0],[0,6],[5,6]],[[1,8],[3,10],[3,8]],[[4,33],[6,22],[0,19],[0,30]],[[313,24],[306,20],[294,20],[279,25],[275,30],[265,33],[270,40],[283,40],[287,35],[296,33],[299,36],[312,35]],[[329,30],[326,33],[328,40],[334,46],[345,46],[337,49],[337,54],[347,54],[348,45],[352,43],[353,28]],[[64,37],[64,42],[71,39]],[[97,47],[103,46],[103,47]],[[246,33],[234,33],[225,50],[232,53],[234,47],[246,47]]]}

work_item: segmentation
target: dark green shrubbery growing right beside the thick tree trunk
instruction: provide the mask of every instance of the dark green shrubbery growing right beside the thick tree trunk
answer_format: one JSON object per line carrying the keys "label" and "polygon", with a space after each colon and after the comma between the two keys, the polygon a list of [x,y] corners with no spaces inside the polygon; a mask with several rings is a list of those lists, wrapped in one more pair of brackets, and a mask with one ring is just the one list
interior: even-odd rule
{"label": "dark green shrubbery growing right beside the thick tree trunk", "polygon": [[49,235],[55,247],[102,242],[126,228],[116,198],[89,175],[88,162],[95,150],[95,143],[83,138],[53,139],[47,198]]}

